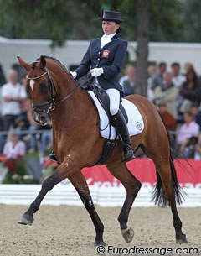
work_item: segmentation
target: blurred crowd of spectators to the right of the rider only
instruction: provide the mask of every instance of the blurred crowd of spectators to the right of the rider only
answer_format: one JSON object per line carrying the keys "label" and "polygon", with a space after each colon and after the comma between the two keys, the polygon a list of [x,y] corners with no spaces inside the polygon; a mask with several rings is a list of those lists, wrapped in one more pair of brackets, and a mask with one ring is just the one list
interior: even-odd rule
{"label": "blurred crowd of spectators to the right of the rider only", "polygon": [[[168,67],[166,62],[148,66],[147,98],[158,108],[172,139],[178,157],[201,159],[201,78],[193,64],[178,62]],[[135,94],[136,70],[126,66],[120,79],[125,96]]]}

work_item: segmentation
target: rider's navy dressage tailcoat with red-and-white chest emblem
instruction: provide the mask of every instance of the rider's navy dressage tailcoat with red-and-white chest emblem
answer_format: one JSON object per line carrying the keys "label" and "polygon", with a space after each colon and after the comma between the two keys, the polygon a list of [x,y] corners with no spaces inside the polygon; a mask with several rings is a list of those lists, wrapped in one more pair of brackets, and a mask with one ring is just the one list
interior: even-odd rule
{"label": "rider's navy dressage tailcoat with red-and-white chest emblem", "polygon": [[127,42],[115,34],[111,42],[106,44],[101,49],[101,39],[93,39],[80,63],[80,66],[75,70],[76,78],[85,76],[87,72],[94,68],[103,68],[103,74],[98,76],[99,85],[103,89],[115,88],[121,91],[122,87],[119,84],[118,74],[126,58]]}

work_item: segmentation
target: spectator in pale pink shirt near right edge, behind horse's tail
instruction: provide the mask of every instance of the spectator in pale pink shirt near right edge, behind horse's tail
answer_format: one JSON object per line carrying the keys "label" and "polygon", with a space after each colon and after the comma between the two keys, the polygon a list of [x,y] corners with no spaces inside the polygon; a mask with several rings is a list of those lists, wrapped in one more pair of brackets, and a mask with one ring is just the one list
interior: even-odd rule
{"label": "spectator in pale pink shirt near right edge, behind horse's tail", "polygon": [[183,113],[184,122],[178,131],[178,144],[180,145],[181,152],[188,145],[189,139],[192,137],[198,138],[199,126],[198,123],[193,121],[193,114],[190,111]]}

